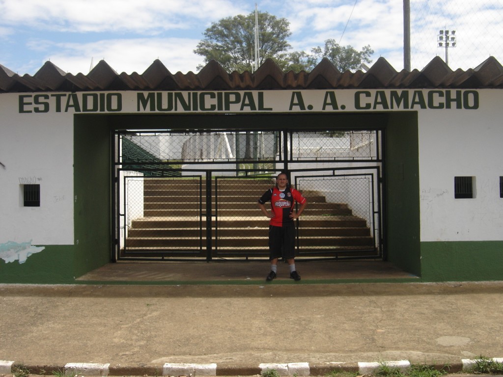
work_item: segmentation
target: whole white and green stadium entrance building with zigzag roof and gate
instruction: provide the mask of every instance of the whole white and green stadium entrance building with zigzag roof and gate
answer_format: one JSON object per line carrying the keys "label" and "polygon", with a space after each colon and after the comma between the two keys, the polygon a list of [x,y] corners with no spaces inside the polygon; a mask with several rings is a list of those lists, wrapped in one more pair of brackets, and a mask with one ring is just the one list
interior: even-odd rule
{"label": "whole white and green stadium entrance building with zigzag roof and gate", "polygon": [[299,260],[422,281],[503,279],[503,67],[228,74],[160,61],[88,75],[0,66],[0,282],[110,262],[267,260],[257,199],[287,172]]}

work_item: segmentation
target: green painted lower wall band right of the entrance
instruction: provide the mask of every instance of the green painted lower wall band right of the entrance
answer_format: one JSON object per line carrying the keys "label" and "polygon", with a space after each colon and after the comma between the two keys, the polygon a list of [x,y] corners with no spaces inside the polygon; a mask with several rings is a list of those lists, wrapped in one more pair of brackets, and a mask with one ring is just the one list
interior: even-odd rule
{"label": "green painted lower wall band right of the entrance", "polygon": [[423,281],[503,280],[503,241],[421,242]]}

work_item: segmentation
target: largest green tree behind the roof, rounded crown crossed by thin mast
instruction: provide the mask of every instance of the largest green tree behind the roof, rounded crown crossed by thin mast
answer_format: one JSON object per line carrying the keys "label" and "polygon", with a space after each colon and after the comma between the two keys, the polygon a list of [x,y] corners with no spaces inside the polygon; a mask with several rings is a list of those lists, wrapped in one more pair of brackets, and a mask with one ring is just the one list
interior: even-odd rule
{"label": "largest green tree behind the roof, rounded crown crossed by thin mast", "polygon": [[[267,58],[280,57],[290,45],[290,23],[267,12],[258,12],[259,65]],[[247,16],[227,17],[204,32],[194,53],[204,56],[205,63],[215,59],[228,72],[251,71],[255,61],[255,12]],[[198,67],[202,68],[201,66]]]}

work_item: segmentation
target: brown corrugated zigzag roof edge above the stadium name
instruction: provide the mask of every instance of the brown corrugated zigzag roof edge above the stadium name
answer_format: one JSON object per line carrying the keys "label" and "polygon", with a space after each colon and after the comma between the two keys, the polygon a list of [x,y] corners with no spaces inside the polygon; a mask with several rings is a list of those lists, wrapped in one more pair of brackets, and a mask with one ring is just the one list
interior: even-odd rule
{"label": "brown corrugated zigzag roof edge above the stadium name", "polygon": [[0,64],[0,92],[341,88],[503,88],[503,66],[491,56],[473,69],[453,71],[437,56],[421,71],[397,72],[381,57],[367,72],[340,72],[328,59],[323,59],[311,72],[294,73],[283,72],[273,60],[267,59],[254,73],[227,73],[211,60],[197,74],[173,74],[157,59],[142,74],[118,74],[101,60],[89,74],[73,75],[47,61],[33,76],[19,76]]}

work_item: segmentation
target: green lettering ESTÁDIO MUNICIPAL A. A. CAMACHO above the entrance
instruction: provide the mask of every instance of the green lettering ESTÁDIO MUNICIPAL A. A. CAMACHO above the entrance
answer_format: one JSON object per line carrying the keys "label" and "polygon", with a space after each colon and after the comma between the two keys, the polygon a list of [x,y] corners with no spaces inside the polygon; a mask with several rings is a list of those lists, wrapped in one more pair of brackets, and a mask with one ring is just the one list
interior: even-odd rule
{"label": "green lettering EST\u00c1DIO MUNICIPAL A. A. CAMACHO above the entrance", "polygon": [[476,110],[477,90],[119,91],[19,95],[19,113]]}

